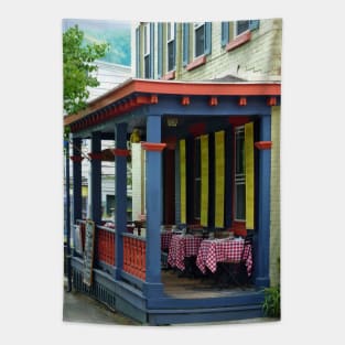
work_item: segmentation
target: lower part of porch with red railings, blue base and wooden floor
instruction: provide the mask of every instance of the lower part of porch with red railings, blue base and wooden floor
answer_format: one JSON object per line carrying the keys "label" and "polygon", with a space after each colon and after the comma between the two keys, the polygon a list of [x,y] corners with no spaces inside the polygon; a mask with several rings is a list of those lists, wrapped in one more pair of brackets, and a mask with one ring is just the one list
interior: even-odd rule
{"label": "lower part of porch with red railings, blue base and wooden floor", "polygon": [[[83,229],[84,220],[78,222]],[[78,227],[75,227],[78,229]],[[82,230],[82,238],[85,238]],[[197,276],[185,274],[176,268],[163,268],[163,291],[147,298],[144,292],[144,247],[142,239],[134,239],[126,249],[126,268],[121,279],[115,278],[114,230],[96,226],[93,283],[85,281],[85,256],[74,251],[72,258],[73,287],[86,293],[110,310],[139,321],[142,324],[166,325],[179,323],[229,321],[262,316],[263,293],[252,283],[238,287],[231,281],[219,284],[222,271]],[[123,241],[126,239],[123,238]],[[82,245],[82,248],[85,245]],[[82,249],[85,250],[85,249]]]}

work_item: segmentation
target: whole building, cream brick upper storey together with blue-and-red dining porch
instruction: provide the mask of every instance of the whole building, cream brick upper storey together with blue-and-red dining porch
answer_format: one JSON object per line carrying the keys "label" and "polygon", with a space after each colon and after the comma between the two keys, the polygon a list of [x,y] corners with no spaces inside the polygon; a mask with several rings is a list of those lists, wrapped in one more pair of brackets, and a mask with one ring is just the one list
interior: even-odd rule
{"label": "whole building, cream brick upper storey together with blue-and-red dining porch", "polygon": [[[64,119],[82,244],[71,258],[73,285],[143,324],[260,317],[265,288],[279,283],[281,22],[136,23],[132,33],[136,78]],[[112,226],[101,209],[107,140]]]}

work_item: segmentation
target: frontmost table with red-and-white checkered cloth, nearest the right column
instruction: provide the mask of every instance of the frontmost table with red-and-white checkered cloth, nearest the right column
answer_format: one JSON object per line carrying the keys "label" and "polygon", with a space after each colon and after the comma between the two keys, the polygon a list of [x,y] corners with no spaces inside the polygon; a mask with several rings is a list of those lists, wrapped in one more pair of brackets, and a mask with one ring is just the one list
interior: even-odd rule
{"label": "frontmost table with red-and-white checkered cloth, nearest the right column", "polygon": [[[196,257],[197,268],[205,274],[206,268],[213,273],[217,270],[217,262],[239,262],[244,250],[245,240],[236,239],[205,239],[202,241]],[[246,260],[247,273],[251,274],[252,256],[251,247],[246,246],[249,250]]]}

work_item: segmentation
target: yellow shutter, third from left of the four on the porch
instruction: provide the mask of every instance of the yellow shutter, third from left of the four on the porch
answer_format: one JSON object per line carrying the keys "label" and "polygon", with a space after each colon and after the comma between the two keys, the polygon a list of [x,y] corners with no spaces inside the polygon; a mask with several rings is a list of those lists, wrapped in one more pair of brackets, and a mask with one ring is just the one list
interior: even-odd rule
{"label": "yellow shutter, third from left of the four on the porch", "polygon": [[224,227],[225,158],[224,130],[215,133],[215,227]]}

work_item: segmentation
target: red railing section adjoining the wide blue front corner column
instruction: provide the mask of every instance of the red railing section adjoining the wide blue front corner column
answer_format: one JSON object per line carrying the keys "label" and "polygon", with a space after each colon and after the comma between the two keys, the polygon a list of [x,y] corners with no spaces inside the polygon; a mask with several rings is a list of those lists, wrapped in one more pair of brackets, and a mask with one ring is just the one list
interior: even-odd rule
{"label": "red railing section adjoining the wide blue front corner column", "polygon": [[145,279],[147,242],[143,238],[123,235],[123,271]]}

